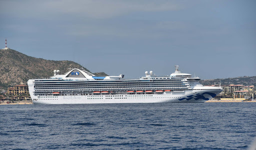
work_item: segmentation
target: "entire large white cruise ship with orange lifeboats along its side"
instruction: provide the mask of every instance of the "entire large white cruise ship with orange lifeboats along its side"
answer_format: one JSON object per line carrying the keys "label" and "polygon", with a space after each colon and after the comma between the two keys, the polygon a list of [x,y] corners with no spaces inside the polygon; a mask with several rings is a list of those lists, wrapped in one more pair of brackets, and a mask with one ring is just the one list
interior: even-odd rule
{"label": "entire large white cruise ship with orange lifeboats along its side", "polygon": [[146,71],[138,79],[119,76],[95,76],[83,68],[48,79],[29,79],[33,104],[103,104],[103,103],[195,103],[219,94],[220,87],[202,86],[198,77],[181,73],[178,66],[170,75],[156,76]]}

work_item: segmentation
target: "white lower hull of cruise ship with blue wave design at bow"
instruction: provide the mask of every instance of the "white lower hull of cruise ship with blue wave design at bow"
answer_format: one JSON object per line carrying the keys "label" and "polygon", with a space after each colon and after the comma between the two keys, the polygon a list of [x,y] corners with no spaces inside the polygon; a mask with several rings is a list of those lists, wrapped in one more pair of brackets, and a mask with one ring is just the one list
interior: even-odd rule
{"label": "white lower hull of cruise ship with blue wave design at bow", "polygon": [[34,97],[33,104],[113,104],[113,103],[203,103],[221,90],[193,90],[161,94],[100,94]]}

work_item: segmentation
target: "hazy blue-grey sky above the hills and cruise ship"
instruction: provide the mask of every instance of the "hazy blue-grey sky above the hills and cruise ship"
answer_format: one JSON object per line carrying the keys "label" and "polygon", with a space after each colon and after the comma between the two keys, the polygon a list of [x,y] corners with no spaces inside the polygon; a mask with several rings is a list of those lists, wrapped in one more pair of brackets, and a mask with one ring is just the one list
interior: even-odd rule
{"label": "hazy blue-grey sky above the hills and cruise ship", "polygon": [[[138,78],[256,76],[255,0],[0,0],[0,48]],[[58,68],[56,68],[58,69]]]}

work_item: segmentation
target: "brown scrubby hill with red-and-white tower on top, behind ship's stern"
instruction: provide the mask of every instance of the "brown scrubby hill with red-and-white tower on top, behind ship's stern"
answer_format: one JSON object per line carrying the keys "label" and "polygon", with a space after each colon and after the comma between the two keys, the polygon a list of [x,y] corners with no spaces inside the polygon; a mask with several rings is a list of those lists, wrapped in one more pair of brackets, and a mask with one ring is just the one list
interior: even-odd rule
{"label": "brown scrubby hill with red-and-white tower on top, behind ship's stern", "polygon": [[[13,49],[0,50],[0,87],[26,84],[28,79],[48,78],[53,70],[67,72],[69,67],[82,67],[73,61],[54,61],[27,56]],[[90,72],[88,69],[84,68]],[[93,73],[106,76],[104,72]]]}

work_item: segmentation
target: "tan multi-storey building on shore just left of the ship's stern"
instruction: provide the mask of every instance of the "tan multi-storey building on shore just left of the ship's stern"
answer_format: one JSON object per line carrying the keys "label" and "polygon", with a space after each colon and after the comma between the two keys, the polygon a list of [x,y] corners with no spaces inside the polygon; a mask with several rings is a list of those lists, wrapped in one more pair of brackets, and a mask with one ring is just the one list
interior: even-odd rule
{"label": "tan multi-storey building on shore just left of the ship's stern", "polygon": [[7,93],[9,96],[28,95],[28,86],[24,84],[15,85],[14,87],[8,88]]}

